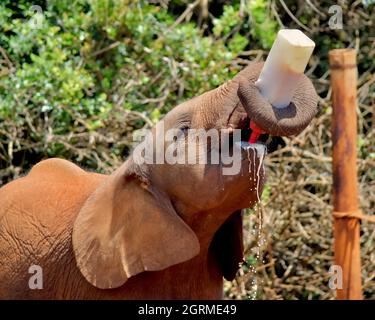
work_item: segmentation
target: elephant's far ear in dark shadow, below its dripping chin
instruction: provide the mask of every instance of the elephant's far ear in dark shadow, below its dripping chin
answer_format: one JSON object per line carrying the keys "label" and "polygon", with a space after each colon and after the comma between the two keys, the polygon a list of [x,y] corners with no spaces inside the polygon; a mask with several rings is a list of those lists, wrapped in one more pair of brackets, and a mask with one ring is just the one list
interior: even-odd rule
{"label": "elephant's far ear in dark shadow, below its dripping chin", "polygon": [[232,281],[244,261],[242,211],[234,212],[216,232],[211,243],[222,275]]}

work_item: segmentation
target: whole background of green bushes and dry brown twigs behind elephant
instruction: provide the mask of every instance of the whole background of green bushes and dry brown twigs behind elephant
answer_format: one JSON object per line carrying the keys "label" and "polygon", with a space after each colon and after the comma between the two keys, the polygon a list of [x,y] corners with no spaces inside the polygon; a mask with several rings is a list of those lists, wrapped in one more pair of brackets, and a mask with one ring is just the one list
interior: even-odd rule
{"label": "whole background of green bushes and dry brown twigs behind elephant", "polygon": [[[331,29],[331,5],[343,29]],[[36,14],[38,5],[43,10]],[[330,299],[331,91],[328,50],[358,52],[359,185],[375,207],[374,1],[2,0],[0,3],[0,185],[36,162],[62,157],[109,173],[129,154],[133,132],[178,103],[266,58],[277,31],[316,42],[307,74],[320,113],[267,160],[261,234],[246,218],[247,262],[228,298]],[[37,26],[37,27],[36,27]],[[371,211],[372,210],[372,211]],[[362,223],[366,298],[375,298],[374,229]],[[258,258],[254,248],[260,248]]]}

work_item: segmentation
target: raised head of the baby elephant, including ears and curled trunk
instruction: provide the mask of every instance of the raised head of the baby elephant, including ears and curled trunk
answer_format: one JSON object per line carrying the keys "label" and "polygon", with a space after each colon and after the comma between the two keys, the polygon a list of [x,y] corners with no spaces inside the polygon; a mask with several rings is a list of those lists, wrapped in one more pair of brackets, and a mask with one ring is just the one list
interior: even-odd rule
{"label": "raised head of the baby elephant, including ears and curled trunk", "polygon": [[[116,288],[141,272],[162,270],[210,249],[218,252],[222,274],[233,278],[242,259],[239,210],[259,200],[265,146],[245,143],[243,148],[229,142],[215,149],[212,145],[221,143],[222,135],[218,140],[198,139],[194,159],[215,150],[220,155],[226,147],[232,153],[239,148],[240,168],[227,175],[221,160],[177,159],[171,164],[158,163],[157,158],[176,145],[191,150],[192,141],[197,141],[189,135],[193,129],[227,136],[239,129],[244,141],[250,120],[272,135],[302,131],[316,112],[311,82],[301,76],[291,104],[276,109],[254,86],[261,67],[252,64],[220,87],[171,110],[162,120],[162,133],[156,127],[151,140],[146,139],[152,161],[140,162],[139,154],[133,153],[86,200],[74,223],[73,247],[77,265],[91,284]],[[168,138],[166,132],[172,129],[175,133]],[[153,142],[160,136],[163,143],[157,146]]]}

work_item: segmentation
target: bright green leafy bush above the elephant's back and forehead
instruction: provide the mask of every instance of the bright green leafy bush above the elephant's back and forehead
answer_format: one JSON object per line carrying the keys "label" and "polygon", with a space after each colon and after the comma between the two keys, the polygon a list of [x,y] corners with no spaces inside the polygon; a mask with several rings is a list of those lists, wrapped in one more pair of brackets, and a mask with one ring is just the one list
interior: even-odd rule
{"label": "bright green leafy bush above the elephant's back and forehead", "polygon": [[[113,122],[121,121],[121,110],[144,116],[131,123],[123,119],[122,136],[142,127],[145,118],[157,122],[179,102],[232,77],[239,68],[231,62],[248,44],[240,34],[206,36],[193,22],[172,26],[172,14],[143,1],[41,2],[44,19],[38,29],[30,23],[32,5],[0,4],[0,45],[9,60],[0,74],[4,149],[13,139],[9,126],[17,124],[22,132],[12,154],[2,154],[4,167],[45,156],[79,158],[92,166],[96,155],[82,155],[83,145],[76,158],[76,136],[118,128]],[[228,36],[238,22],[238,10],[226,6],[215,23]],[[39,142],[32,150],[23,145],[29,137]],[[61,139],[65,147],[56,142]],[[129,145],[111,150],[126,154]]]}

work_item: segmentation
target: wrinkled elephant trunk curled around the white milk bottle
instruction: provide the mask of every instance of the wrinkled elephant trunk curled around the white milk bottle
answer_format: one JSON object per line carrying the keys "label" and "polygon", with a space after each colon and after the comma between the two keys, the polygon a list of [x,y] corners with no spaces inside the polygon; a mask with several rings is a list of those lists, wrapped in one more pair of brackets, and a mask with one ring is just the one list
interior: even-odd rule
{"label": "wrinkled elephant trunk curled around the white milk bottle", "polygon": [[318,96],[311,81],[300,75],[291,103],[285,108],[272,106],[255,86],[263,64],[238,74],[238,96],[248,117],[262,131],[273,136],[297,135],[317,112]]}

